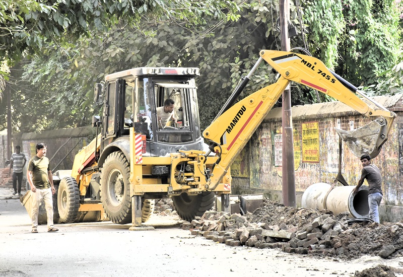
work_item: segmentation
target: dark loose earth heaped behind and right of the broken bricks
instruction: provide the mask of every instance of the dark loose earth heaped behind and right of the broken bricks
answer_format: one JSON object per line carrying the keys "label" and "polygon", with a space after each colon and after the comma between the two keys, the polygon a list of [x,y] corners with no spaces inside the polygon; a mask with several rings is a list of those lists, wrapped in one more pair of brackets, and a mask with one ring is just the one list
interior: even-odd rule
{"label": "dark loose earth heaped behind and right of the broken bricks", "polygon": [[347,230],[332,236],[330,245],[310,251],[312,255],[333,256],[340,259],[356,259],[362,255],[379,255],[382,258],[403,256],[403,224],[401,223],[354,223],[348,224],[348,213],[333,215],[327,210],[286,207],[283,204],[263,199],[261,207],[248,213],[249,222],[269,225],[293,225],[298,229],[310,224],[318,215],[329,214],[340,221]]}

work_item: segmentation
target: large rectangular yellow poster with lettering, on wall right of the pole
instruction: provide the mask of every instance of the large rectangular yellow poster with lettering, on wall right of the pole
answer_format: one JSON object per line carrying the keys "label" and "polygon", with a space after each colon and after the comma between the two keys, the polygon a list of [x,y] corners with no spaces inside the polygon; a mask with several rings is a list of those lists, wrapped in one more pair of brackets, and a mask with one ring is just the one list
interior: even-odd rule
{"label": "large rectangular yellow poster with lettering, on wall right of the pole", "polygon": [[318,122],[302,123],[302,162],[319,163]]}

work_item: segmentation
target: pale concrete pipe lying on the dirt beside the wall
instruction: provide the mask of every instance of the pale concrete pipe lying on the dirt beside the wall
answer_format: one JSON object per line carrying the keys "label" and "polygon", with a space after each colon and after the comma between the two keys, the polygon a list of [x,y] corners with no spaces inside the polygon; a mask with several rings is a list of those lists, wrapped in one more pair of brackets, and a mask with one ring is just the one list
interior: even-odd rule
{"label": "pale concrete pipe lying on the dirt beside the wall", "polygon": [[327,209],[333,214],[349,212],[354,218],[368,217],[368,186],[362,185],[355,195],[355,186],[334,186],[327,194],[330,187],[326,183],[310,185],[302,195],[302,207]]}

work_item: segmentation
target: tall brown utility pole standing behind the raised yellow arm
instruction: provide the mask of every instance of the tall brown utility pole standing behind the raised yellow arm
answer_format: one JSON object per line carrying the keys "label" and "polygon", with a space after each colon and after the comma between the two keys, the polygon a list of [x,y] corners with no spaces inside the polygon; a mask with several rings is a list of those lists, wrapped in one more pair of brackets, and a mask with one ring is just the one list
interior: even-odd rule
{"label": "tall brown utility pole standing behind the raised yellow arm", "polygon": [[[288,22],[290,21],[290,2],[289,0],[280,0],[279,6],[281,26],[281,50],[290,51],[290,38],[288,37]],[[288,86],[283,92],[282,115],[283,203],[286,206],[295,207],[297,206],[297,201],[295,192],[294,138],[290,86]]]}

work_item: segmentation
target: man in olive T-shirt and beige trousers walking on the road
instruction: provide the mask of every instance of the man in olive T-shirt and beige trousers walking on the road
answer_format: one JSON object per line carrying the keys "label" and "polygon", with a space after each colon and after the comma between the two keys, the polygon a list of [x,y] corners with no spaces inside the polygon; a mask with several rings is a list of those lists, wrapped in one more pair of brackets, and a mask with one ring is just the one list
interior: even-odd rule
{"label": "man in olive T-shirt and beige trousers walking on the road", "polygon": [[49,167],[49,159],[46,156],[45,144],[36,145],[36,156],[28,163],[27,180],[31,186],[32,197],[32,233],[38,233],[39,204],[45,202],[47,214],[47,231],[56,232],[58,229],[53,226],[53,201],[52,194],[56,193],[53,186],[52,172]]}

